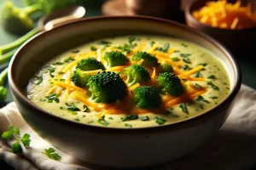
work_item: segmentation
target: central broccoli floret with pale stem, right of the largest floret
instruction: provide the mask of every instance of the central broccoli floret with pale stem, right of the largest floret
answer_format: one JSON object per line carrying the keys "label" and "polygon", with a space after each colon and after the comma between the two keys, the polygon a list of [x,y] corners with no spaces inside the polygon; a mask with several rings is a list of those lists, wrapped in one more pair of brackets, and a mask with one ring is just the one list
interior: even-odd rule
{"label": "central broccoli floret with pale stem, right of the largest floret", "polygon": [[131,65],[124,69],[127,77],[128,86],[132,86],[137,82],[148,82],[150,80],[149,72],[141,65]]}

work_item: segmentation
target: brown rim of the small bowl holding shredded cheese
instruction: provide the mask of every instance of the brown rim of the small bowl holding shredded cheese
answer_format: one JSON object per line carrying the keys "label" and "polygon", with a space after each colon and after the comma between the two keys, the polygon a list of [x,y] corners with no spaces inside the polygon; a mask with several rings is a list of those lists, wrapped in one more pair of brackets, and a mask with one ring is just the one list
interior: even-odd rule
{"label": "brown rim of the small bowl holding shredded cheese", "polygon": [[[195,5],[195,3],[199,3],[199,2],[207,3],[209,1],[211,1],[211,0],[195,0],[195,1],[192,1],[190,3],[187,3],[185,8],[184,8],[186,22],[187,23],[188,22],[194,22],[197,25],[203,26],[204,28],[212,29],[212,30],[216,30],[216,31],[230,31],[230,32],[232,31],[232,32],[237,32],[237,31],[255,31],[256,30],[256,27],[245,28],[245,29],[241,29],[241,30],[238,30],[238,29],[234,29],[234,30],[232,30],[232,29],[223,29],[223,28],[219,28],[219,27],[209,26],[209,25],[201,23],[199,20],[196,20],[195,17],[191,14],[192,6]],[[247,0],[247,2],[255,3],[252,0]]]}

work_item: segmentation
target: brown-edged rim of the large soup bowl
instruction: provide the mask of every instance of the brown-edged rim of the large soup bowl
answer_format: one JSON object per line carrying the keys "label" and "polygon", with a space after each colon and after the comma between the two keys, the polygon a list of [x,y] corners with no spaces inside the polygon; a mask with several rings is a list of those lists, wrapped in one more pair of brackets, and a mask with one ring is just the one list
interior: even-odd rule
{"label": "brown-edged rim of the large soup bowl", "polygon": [[[161,126],[154,126],[154,127],[133,127],[133,128],[126,128],[126,127],[101,127],[101,126],[96,126],[96,125],[90,125],[90,124],[85,124],[82,122],[75,122],[66,118],[63,118],[61,116],[55,116],[54,114],[49,113],[48,111],[45,111],[44,109],[40,108],[39,106],[35,105],[32,103],[31,100],[27,99],[26,95],[23,94],[20,90],[20,88],[16,85],[15,82],[15,72],[13,69],[13,65],[15,64],[15,59],[18,58],[20,53],[23,53],[23,50],[29,50],[30,44],[34,41],[37,41],[38,38],[46,36],[49,32],[52,31],[58,31],[60,29],[65,28],[65,26],[70,26],[74,25],[76,23],[80,22],[92,22],[92,21],[99,21],[99,20],[149,20],[152,22],[157,22],[157,23],[162,23],[162,24],[167,24],[167,25],[172,25],[176,26],[179,29],[185,30],[185,31],[190,31],[191,33],[200,36],[204,38],[206,41],[211,42],[213,46],[218,48],[226,57],[227,59],[230,60],[230,64],[233,67],[234,73],[235,73],[235,85],[234,88],[230,91],[230,94],[224,98],[218,105],[215,105],[212,107],[210,110],[202,112],[200,115],[190,117],[189,119],[185,119],[180,122],[174,122],[171,124],[164,124]],[[127,15],[120,15],[120,16],[96,16],[96,17],[90,17],[90,18],[84,18],[84,19],[79,19],[79,20],[73,20],[68,23],[63,23],[55,28],[53,28],[50,31],[42,31],[39,32],[37,35],[31,37],[29,40],[27,40],[14,54],[12,59],[10,60],[9,63],[9,86],[12,91],[12,95],[17,95],[19,99],[22,100],[23,103],[26,104],[26,106],[32,108],[32,110],[37,111],[37,114],[41,114],[42,116],[47,116],[47,118],[52,119],[57,122],[64,122],[66,125],[72,126],[73,128],[86,128],[87,130],[92,129],[92,130],[99,130],[103,132],[108,132],[108,133],[149,133],[149,132],[169,132],[170,128],[171,129],[178,129],[180,127],[190,127],[193,126],[196,122],[201,122],[201,121],[206,121],[204,120],[205,116],[208,116],[208,118],[211,118],[214,116],[214,114],[220,114],[216,113],[215,111],[218,110],[219,107],[224,106],[226,103],[230,102],[235,99],[236,94],[238,94],[240,88],[241,88],[241,71],[240,67],[236,62],[236,59],[234,56],[230,53],[230,51],[222,44],[220,44],[218,41],[214,40],[212,37],[208,37],[206,34],[201,33],[200,31],[195,30],[194,28],[191,28],[189,26],[185,26],[183,24],[177,23],[172,20],[165,20],[165,19],[160,19],[160,18],[155,18],[155,17],[149,17],[149,16],[127,16]],[[22,114],[21,114],[22,115]],[[40,116],[41,116],[40,115]],[[166,131],[168,130],[168,131]]]}

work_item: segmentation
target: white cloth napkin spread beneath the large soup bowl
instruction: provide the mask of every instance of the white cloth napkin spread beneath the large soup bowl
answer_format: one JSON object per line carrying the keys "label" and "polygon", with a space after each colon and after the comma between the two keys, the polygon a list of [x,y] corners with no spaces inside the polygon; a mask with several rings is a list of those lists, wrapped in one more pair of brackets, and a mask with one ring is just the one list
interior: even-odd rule
{"label": "white cloth napkin spread beneath the large soup bowl", "polygon": [[[244,85],[238,94],[234,110],[224,126],[211,139],[188,156],[163,165],[147,169],[207,169],[207,170],[240,170],[252,167],[256,163],[256,91]],[[74,169],[113,169],[94,166],[56,150],[62,157],[54,161],[41,152],[51,147],[40,138],[20,116],[15,103],[0,110],[0,133],[9,125],[20,128],[23,133],[31,134],[31,145],[23,150],[22,155],[10,152],[13,141],[0,139],[0,159],[20,170],[74,170]],[[132,163],[132,162],[131,162]]]}

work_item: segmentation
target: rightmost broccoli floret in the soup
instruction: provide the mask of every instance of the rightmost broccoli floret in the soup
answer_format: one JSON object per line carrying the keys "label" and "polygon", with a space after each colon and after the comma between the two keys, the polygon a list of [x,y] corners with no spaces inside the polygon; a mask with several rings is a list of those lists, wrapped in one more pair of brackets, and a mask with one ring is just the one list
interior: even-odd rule
{"label": "rightmost broccoli floret in the soup", "polygon": [[174,73],[160,73],[160,76],[156,77],[156,80],[159,83],[160,91],[163,93],[167,92],[172,96],[180,96],[184,92],[180,79]]}

